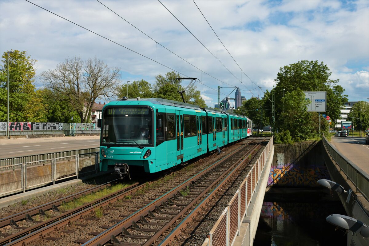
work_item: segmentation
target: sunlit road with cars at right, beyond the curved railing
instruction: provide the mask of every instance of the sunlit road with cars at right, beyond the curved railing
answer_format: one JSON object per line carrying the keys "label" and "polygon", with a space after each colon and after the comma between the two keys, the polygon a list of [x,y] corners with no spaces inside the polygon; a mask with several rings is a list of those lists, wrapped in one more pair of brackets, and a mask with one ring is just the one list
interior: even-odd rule
{"label": "sunlit road with cars at right, beyond the curved railing", "polygon": [[365,144],[365,138],[332,136],[331,143],[342,155],[369,174],[369,145]]}

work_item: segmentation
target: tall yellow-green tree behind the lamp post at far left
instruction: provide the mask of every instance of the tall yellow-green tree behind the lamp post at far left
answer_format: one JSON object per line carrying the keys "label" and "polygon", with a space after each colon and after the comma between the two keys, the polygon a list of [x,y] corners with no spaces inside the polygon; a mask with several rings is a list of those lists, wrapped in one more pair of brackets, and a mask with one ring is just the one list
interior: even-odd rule
{"label": "tall yellow-green tree behind the lamp post at far left", "polygon": [[[0,121],[7,121],[7,52],[3,53],[2,58]],[[44,105],[33,84],[36,62],[25,51],[14,50],[14,53],[9,53],[9,121],[46,121]]]}

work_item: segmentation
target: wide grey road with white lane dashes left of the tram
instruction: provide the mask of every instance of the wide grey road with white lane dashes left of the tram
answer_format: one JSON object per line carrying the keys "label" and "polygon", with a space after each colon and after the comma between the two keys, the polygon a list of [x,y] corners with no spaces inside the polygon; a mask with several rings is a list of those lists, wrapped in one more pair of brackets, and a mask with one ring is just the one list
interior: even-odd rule
{"label": "wide grey road with white lane dashes left of the tram", "polygon": [[0,159],[99,147],[100,136],[1,139]]}

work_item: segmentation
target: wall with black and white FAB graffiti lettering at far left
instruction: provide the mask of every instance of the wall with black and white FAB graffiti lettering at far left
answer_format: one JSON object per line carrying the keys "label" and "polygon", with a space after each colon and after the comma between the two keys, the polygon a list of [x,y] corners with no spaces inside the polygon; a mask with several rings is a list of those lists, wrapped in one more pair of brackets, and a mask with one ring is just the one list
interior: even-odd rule
{"label": "wall with black and white FAB graffiti lettering at far left", "polygon": [[[63,130],[61,122],[9,122],[9,131]],[[0,131],[6,131],[6,122],[0,122]]]}

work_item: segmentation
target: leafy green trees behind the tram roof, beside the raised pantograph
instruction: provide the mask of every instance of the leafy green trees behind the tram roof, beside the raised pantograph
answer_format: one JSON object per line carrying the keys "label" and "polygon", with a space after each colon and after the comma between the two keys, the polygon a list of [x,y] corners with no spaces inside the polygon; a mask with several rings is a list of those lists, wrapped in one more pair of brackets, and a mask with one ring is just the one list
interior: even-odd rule
{"label": "leafy green trees behind the tram roof, beside the raised pantograph", "polygon": [[[182,87],[181,82],[177,80],[179,77],[179,74],[175,72],[168,72],[165,74],[165,77],[161,74],[155,76],[156,82],[153,85],[155,97],[182,102],[178,90],[184,90],[184,87]],[[185,103],[206,107],[205,101],[200,95],[200,91],[196,90],[194,84],[187,88],[183,97]]]}

